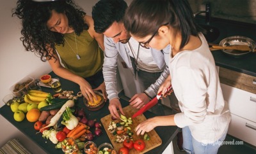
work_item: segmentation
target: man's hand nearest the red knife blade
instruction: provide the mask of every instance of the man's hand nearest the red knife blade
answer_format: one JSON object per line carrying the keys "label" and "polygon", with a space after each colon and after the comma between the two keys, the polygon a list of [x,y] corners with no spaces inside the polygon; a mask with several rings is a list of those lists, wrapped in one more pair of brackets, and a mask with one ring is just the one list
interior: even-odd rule
{"label": "man's hand nearest the red knife blade", "polygon": [[133,108],[140,109],[142,106],[147,104],[149,102],[149,98],[146,94],[141,93],[141,94],[135,94],[131,99],[130,99],[130,105]]}

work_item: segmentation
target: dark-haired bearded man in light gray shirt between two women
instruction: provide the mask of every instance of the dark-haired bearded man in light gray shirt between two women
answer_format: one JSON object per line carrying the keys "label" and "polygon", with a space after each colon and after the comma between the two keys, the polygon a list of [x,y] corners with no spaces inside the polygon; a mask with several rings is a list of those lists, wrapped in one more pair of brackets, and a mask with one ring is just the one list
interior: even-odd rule
{"label": "dark-haired bearded man in light gray shirt between two women", "polygon": [[[170,47],[158,51],[143,46],[133,39],[122,22],[126,8],[127,3],[124,0],[100,0],[92,10],[94,29],[104,34],[103,76],[109,99],[108,108],[114,118],[120,118],[120,113],[124,114],[116,91],[118,55],[122,57],[126,67],[131,70],[135,80],[139,80],[144,88],[143,93],[135,94],[129,101],[134,108],[139,109],[147,104],[170,75],[168,66],[166,66]],[[163,109],[159,111],[159,107],[161,108],[161,104],[158,103],[158,106],[153,107],[151,111],[157,115],[163,115]]]}

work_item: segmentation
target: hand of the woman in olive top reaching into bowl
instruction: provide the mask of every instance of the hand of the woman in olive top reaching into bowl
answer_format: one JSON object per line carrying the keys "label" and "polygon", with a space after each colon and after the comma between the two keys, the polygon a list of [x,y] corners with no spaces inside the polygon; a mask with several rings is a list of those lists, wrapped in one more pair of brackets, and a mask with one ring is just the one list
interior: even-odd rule
{"label": "hand of the woman in olive top reaching into bowl", "polygon": [[90,83],[88,83],[88,81],[84,80],[79,85],[82,94],[88,101],[93,102],[93,97],[97,99],[96,94],[93,92],[92,86],[90,85]]}

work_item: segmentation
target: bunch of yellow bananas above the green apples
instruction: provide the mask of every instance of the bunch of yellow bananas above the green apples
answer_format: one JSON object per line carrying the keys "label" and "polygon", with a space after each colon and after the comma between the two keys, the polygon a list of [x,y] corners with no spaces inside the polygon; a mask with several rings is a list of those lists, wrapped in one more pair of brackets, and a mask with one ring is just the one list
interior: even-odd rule
{"label": "bunch of yellow bananas above the green apples", "polygon": [[39,104],[39,102],[45,101],[47,99],[52,99],[52,95],[40,90],[29,90],[28,94],[24,96],[24,101],[28,103],[34,102]]}

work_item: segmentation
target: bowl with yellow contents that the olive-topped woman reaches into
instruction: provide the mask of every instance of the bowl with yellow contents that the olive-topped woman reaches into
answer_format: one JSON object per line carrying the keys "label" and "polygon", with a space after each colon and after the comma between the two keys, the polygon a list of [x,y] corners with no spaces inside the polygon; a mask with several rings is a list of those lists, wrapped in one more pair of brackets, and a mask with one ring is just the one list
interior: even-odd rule
{"label": "bowl with yellow contents that the olive-topped woman reaches into", "polygon": [[96,94],[98,100],[93,98],[92,102],[88,101],[85,97],[83,98],[84,105],[90,111],[97,111],[101,109],[105,104],[103,94],[98,91],[94,91],[94,93]]}

